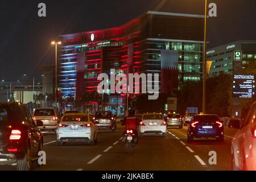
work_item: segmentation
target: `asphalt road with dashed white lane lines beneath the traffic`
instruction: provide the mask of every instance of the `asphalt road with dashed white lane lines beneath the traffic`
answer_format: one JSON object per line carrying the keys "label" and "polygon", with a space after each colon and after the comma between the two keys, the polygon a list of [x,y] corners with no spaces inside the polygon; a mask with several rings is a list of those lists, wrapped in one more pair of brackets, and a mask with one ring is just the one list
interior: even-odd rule
{"label": "asphalt road with dashed white lane lines beneath the traffic", "polygon": [[[115,133],[99,132],[95,146],[56,146],[55,133],[44,133],[47,164],[35,170],[231,170],[230,142],[236,133],[234,129],[225,128],[224,142],[199,139],[192,143],[187,142],[187,127],[168,129],[166,138],[140,138],[133,154],[128,154],[121,141],[123,130],[118,125]],[[217,164],[209,164],[210,151],[216,151]]]}

